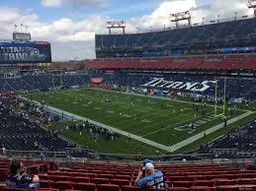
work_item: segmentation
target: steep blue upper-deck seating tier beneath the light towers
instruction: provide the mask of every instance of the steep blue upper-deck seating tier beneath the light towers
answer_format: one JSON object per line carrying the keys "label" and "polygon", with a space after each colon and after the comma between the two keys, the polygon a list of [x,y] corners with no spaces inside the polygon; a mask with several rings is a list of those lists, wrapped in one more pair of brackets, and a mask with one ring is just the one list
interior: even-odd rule
{"label": "steep blue upper-deck seating tier beneath the light towers", "polygon": [[171,55],[174,50],[255,46],[256,19],[161,32],[96,34],[97,58]]}

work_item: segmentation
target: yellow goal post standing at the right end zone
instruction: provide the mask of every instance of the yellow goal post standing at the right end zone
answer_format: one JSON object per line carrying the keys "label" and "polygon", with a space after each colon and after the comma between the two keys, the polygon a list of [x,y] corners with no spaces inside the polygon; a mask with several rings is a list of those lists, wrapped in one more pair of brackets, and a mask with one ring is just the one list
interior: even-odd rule
{"label": "yellow goal post standing at the right end zone", "polygon": [[226,78],[224,78],[224,95],[222,96],[223,97],[223,105],[222,105],[222,110],[220,111],[220,113],[218,113],[218,99],[217,99],[217,92],[218,92],[218,80],[216,79],[215,80],[215,106],[214,106],[214,116],[215,117],[220,117],[220,118],[225,118],[225,114],[226,114]]}

